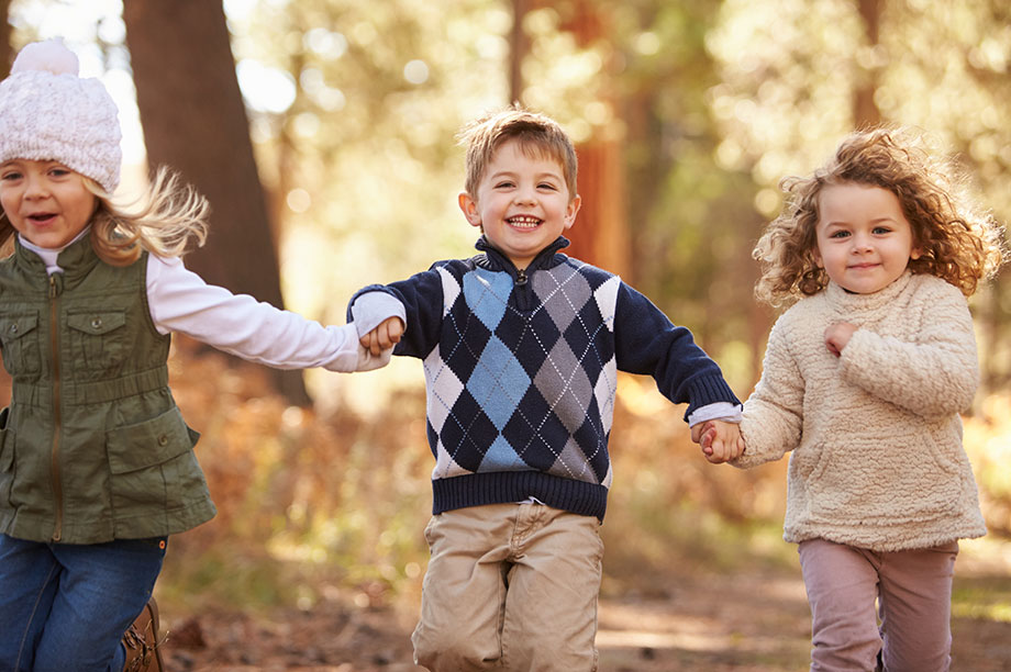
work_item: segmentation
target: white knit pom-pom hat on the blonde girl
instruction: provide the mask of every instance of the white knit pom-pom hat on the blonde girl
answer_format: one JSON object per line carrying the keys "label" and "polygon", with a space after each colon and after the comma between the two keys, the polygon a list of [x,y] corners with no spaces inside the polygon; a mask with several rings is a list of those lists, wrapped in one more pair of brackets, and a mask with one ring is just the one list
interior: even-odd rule
{"label": "white knit pom-pom hat on the blonde girl", "polygon": [[120,122],[98,79],[78,77],[62,40],[25,46],[0,81],[0,163],[55,160],[108,193],[120,183]]}

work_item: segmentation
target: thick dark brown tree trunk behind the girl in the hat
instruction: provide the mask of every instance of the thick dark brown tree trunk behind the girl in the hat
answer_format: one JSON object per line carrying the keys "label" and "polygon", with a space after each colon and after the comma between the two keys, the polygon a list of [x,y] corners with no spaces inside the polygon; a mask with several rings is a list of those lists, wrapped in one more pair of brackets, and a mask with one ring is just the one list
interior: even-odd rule
{"label": "thick dark brown tree trunk behind the girl in the hat", "polygon": [[[187,266],[210,283],[284,307],[221,2],[124,0],[123,21],[148,161],[178,170],[213,209],[207,245]],[[292,403],[309,402],[300,372],[273,374]]]}

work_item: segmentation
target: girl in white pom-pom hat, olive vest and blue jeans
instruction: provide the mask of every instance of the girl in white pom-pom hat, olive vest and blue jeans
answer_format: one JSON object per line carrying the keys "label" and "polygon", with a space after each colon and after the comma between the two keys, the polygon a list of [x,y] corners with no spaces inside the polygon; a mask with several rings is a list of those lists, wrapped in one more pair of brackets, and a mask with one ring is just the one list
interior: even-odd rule
{"label": "girl in white pom-pom hat, olive vest and blue jeans", "polygon": [[137,209],[111,199],[116,108],[77,69],[48,41],[0,82],[0,669],[160,670],[148,598],[167,537],[215,513],[167,385],[170,333],[277,368],[389,352],[188,271],[207,202],[165,170]]}

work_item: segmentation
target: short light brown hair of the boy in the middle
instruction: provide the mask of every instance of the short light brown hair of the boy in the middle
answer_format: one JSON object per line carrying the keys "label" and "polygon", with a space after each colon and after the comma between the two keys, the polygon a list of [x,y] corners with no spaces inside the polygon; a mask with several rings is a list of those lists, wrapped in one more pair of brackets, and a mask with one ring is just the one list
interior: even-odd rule
{"label": "short light brown hair of the boy in the middle", "polygon": [[576,148],[568,134],[555,120],[523,109],[519,103],[491,112],[464,126],[458,135],[467,147],[467,177],[464,190],[477,195],[485,171],[496,150],[507,141],[515,139],[529,156],[551,158],[562,165],[569,199],[576,198],[578,161]]}

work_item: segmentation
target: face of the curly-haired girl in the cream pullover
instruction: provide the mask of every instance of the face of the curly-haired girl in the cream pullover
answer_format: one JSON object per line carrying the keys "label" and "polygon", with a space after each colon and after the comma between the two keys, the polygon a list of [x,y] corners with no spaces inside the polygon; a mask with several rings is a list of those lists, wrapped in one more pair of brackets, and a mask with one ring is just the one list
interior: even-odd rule
{"label": "face of the curly-haired girl in the cream pullover", "polygon": [[902,204],[880,187],[824,187],[818,197],[815,234],[818,265],[833,282],[857,294],[885,289],[920,256]]}

